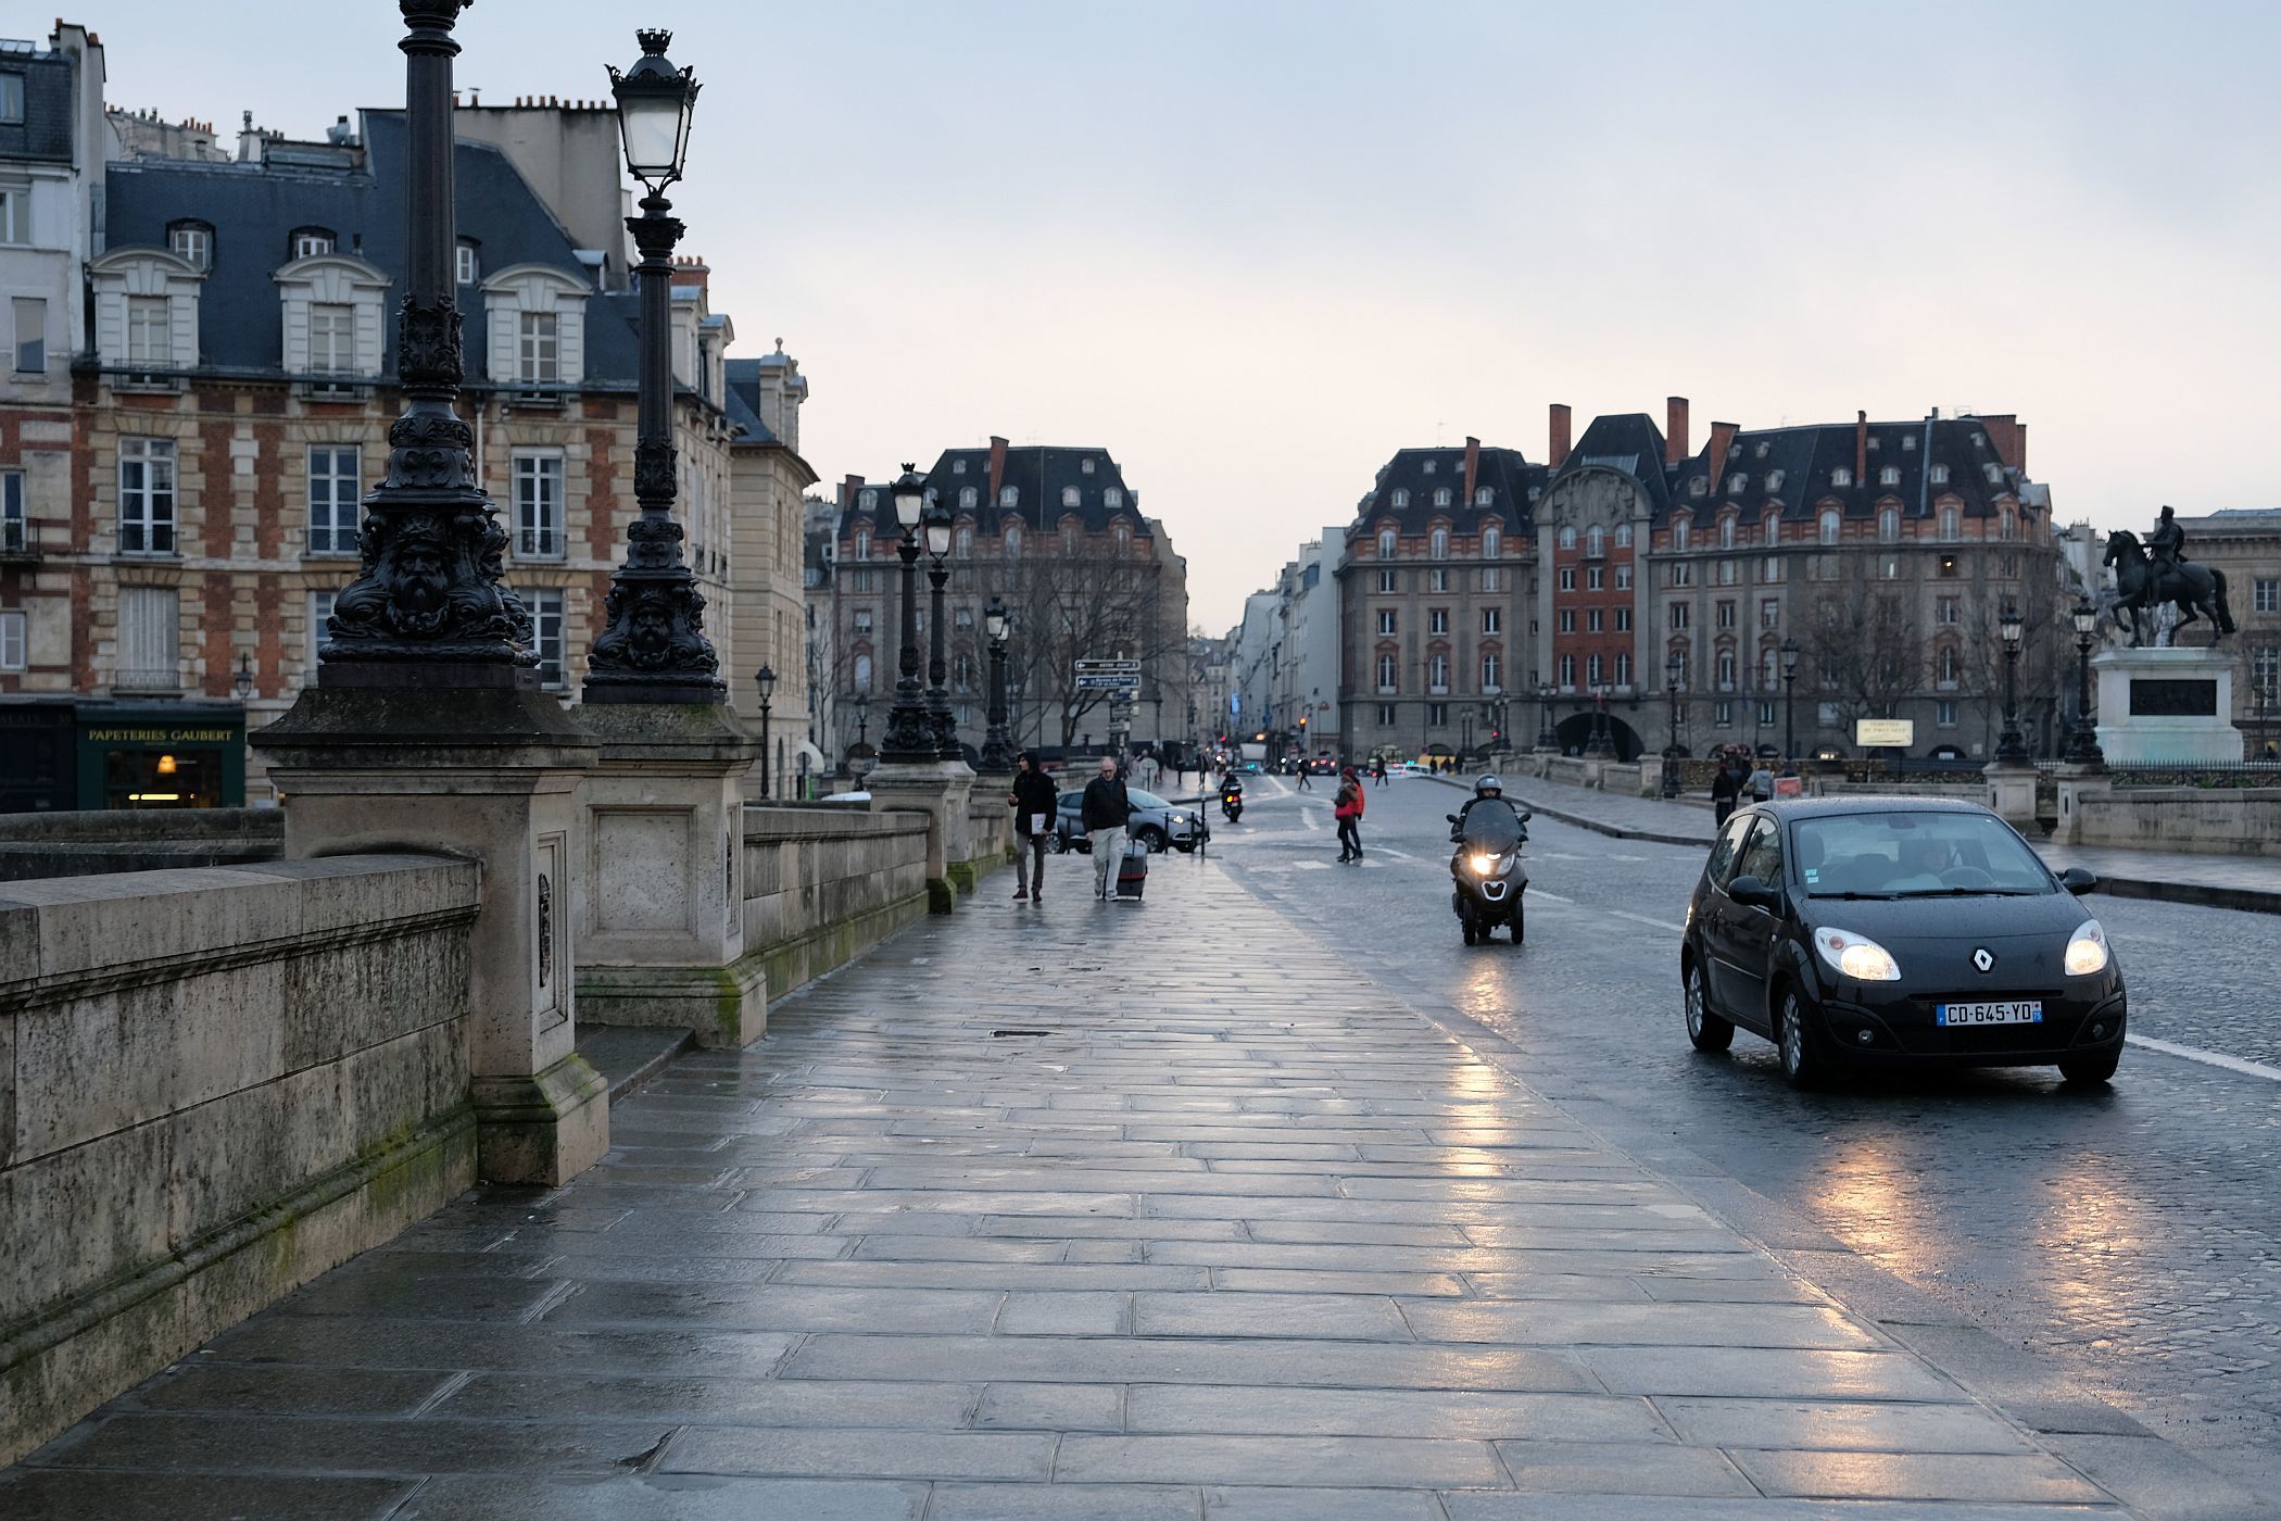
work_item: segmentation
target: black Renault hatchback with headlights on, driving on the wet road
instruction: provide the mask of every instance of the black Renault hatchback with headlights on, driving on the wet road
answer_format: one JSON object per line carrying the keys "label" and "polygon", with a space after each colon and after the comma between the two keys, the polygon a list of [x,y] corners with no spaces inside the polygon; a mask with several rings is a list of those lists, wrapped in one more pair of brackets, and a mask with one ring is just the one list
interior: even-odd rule
{"label": "black Renault hatchback with headlights on, driving on the wet road", "polygon": [[1975,803],[1811,798],[1745,807],[1688,903],[1688,1040],[1736,1026],[1807,1088],[1843,1065],[2055,1065],[2114,1076],[2124,976],[2076,894]]}

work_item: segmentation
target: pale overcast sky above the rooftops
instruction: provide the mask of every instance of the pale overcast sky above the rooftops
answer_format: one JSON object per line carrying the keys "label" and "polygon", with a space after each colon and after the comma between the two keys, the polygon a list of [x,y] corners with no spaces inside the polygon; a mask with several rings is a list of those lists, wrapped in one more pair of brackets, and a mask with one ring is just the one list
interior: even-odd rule
{"label": "pale overcast sky above the rooftops", "polygon": [[[401,103],[388,0],[71,18],[114,105]],[[634,23],[705,82],[684,249],[798,356],[817,472],[1102,445],[1211,632],[1394,449],[1540,461],[1547,401],[2019,413],[2062,520],[2276,504],[2270,0],[481,0],[458,80],[598,96]]]}

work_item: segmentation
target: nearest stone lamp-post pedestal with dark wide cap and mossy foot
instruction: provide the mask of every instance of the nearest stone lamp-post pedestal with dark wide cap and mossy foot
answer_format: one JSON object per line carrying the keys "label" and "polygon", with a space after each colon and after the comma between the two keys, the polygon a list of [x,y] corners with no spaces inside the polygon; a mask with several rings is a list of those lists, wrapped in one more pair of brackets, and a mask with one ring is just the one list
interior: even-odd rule
{"label": "nearest stone lamp-post pedestal with dark wide cap and mossy foot", "polygon": [[292,860],[424,851],[481,862],[468,937],[477,1168],[561,1184],[609,1149],[609,1092],[575,1047],[570,878],[595,741],[534,682],[310,686],[253,734]]}

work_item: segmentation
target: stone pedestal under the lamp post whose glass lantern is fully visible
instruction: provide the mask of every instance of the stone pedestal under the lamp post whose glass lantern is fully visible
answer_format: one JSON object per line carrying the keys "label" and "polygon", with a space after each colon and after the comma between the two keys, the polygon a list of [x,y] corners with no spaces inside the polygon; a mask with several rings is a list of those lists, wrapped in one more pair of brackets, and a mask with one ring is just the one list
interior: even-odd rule
{"label": "stone pedestal under the lamp post whose glass lantern is fully visible", "polygon": [[664,1024],[741,1047],[769,1026],[744,946],[744,778],[760,741],[723,705],[588,702],[573,924],[588,1024]]}

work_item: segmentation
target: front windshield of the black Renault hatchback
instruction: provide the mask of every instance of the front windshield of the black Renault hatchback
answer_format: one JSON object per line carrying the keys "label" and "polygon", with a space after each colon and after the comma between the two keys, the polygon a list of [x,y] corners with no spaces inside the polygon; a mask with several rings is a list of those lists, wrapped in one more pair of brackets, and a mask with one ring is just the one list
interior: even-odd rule
{"label": "front windshield of the black Renault hatchback", "polygon": [[1989,814],[1836,814],[1793,825],[1811,898],[1939,898],[2057,892],[2051,871]]}

